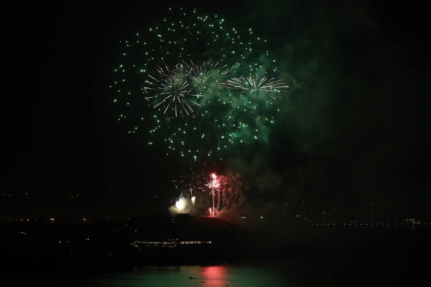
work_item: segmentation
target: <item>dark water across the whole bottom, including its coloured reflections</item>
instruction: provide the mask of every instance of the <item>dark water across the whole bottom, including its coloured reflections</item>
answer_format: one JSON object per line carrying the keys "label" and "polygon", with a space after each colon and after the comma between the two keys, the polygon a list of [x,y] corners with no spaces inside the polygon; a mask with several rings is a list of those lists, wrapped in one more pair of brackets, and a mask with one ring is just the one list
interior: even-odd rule
{"label": "dark water across the whole bottom, including its coloured reflections", "polygon": [[[211,265],[134,266],[122,270],[103,270],[78,266],[55,271],[21,274],[3,286],[422,286],[427,281],[428,258],[299,258],[285,261],[248,261]],[[189,279],[194,276],[195,279]],[[205,281],[204,283],[202,281]]]}

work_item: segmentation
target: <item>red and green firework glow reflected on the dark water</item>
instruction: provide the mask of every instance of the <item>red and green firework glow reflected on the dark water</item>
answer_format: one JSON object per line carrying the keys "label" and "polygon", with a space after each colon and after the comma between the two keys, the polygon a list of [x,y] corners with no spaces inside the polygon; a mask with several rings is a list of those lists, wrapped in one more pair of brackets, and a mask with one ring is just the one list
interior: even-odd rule
{"label": "red and green firework glow reflected on the dark water", "polygon": [[[195,279],[189,279],[189,277]],[[209,266],[135,267],[131,272],[116,272],[93,278],[87,286],[287,286],[284,268],[227,264]],[[204,282],[203,282],[204,281]],[[82,282],[84,283],[84,282]],[[293,282],[290,282],[293,283]],[[289,284],[289,286],[299,286]]]}

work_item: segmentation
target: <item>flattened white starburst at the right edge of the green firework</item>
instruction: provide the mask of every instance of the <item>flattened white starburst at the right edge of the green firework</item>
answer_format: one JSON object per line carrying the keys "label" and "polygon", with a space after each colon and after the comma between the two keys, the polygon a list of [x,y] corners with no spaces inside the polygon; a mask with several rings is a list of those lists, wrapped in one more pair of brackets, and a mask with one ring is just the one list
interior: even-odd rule
{"label": "flattened white starburst at the right edge of the green firework", "polygon": [[271,97],[272,99],[275,99],[275,97],[280,98],[277,94],[286,95],[284,93],[288,93],[287,91],[281,91],[279,89],[288,88],[289,86],[283,86],[284,82],[282,82],[282,80],[274,80],[274,79],[275,78],[268,80],[267,78],[262,77],[259,80],[259,75],[252,75],[247,78],[244,78],[244,77],[240,77],[240,79],[231,78],[231,80],[227,80],[225,82],[225,85],[229,89],[243,90],[240,93],[246,93],[247,91],[249,91],[250,93],[253,94],[255,99],[256,99],[256,93],[258,93],[258,95],[263,99],[261,92],[263,92],[266,96]]}

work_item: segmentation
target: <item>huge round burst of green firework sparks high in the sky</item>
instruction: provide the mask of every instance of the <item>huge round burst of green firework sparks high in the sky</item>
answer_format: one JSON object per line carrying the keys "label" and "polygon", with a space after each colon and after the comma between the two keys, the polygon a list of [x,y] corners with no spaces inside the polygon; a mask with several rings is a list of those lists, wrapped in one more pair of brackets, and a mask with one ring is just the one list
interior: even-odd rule
{"label": "huge round burst of green firework sparks high in the sky", "polygon": [[120,41],[110,86],[118,120],[189,161],[216,162],[267,142],[287,85],[274,77],[266,40],[217,15],[170,13]]}

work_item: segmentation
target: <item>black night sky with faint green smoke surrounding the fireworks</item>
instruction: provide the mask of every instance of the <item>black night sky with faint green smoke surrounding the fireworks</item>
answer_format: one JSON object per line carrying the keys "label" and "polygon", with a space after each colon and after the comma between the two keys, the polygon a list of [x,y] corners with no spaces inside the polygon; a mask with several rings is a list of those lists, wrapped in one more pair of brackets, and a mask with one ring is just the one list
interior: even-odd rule
{"label": "black night sky with faint green smoke surrounding the fireworks", "polygon": [[[290,86],[270,144],[214,167],[248,186],[239,209],[304,201],[361,214],[372,203],[381,218],[430,218],[428,14],[374,2],[181,3],[269,39]],[[128,134],[109,85],[119,40],[169,7],[179,4],[3,9],[4,217],[168,213],[161,198],[184,165]]]}

